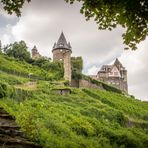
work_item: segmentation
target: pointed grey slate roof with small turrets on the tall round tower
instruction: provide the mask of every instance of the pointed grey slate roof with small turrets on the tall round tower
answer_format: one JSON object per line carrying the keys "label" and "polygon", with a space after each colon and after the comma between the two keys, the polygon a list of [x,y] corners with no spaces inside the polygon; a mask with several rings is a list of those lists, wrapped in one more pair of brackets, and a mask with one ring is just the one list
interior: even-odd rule
{"label": "pointed grey slate roof with small turrets on the tall round tower", "polygon": [[58,42],[57,43],[54,43],[53,50],[54,49],[57,49],[57,48],[64,48],[64,49],[71,50],[70,42],[67,43],[66,38],[65,38],[63,32],[61,33],[61,35],[60,35],[60,37],[58,39]]}

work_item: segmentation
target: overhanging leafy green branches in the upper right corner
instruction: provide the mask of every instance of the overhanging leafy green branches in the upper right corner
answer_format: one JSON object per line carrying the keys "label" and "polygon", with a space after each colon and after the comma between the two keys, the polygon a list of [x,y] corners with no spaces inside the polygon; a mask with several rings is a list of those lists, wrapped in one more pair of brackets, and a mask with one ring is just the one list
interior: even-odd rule
{"label": "overhanging leafy green branches in the upper right corner", "polygon": [[122,35],[125,49],[137,49],[136,44],[148,35],[148,0],[65,0],[82,3],[80,12],[86,20],[94,18],[99,29],[126,28]]}

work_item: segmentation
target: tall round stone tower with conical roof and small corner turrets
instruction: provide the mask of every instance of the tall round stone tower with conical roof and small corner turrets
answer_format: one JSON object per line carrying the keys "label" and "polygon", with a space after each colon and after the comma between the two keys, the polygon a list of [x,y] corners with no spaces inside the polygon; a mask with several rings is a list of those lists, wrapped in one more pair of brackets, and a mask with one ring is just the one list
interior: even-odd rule
{"label": "tall round stone tower with conical roof and small corner turrets", "polygon": [[67,43],[64,33],[62,32],[59,40],[53,46],[53,61],[63,61],[64,78],[71,82],[71,45]]}

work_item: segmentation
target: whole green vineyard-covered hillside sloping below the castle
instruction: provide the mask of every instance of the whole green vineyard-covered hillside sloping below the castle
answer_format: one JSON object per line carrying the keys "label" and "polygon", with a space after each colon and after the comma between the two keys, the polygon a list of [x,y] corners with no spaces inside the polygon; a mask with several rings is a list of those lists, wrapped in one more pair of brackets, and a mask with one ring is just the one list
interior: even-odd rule
{"label": "whole green vineyard-covered hillside sloping below the castle", "polygon": [[[28,76],[32,73],[31,77]],[[146,148],[148,103],[61,85],[53,71],[0,55],[0,107],[45,148]],[[59,95],[56,89],[68,89]]]}

